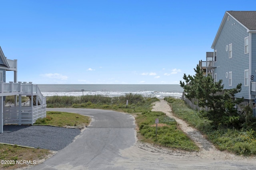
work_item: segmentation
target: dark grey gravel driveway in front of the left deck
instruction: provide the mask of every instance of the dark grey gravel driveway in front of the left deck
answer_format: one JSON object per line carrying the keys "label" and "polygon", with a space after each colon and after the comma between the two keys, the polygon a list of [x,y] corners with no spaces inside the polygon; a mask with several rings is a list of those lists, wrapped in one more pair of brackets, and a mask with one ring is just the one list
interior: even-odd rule
{"label": "dark grey gravel driveway in front of the left deck", "polygon": [[62,127],[4,125],[4,133],[0,133],[0,143],[58,151],[72,143],[80,133],[80,129]]}

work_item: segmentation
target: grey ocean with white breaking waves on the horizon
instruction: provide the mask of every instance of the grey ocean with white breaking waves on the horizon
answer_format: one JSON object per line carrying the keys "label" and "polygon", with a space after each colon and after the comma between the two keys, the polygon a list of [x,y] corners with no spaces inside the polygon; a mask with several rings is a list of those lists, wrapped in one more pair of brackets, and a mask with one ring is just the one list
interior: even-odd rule
{"label": "grey ocean with white breaking waves on the horizon", "polygon": [[183,88],[178,84],[38,84],[44,96],[104,95],[121,96],[127,93],[164,98],[181,98]]}

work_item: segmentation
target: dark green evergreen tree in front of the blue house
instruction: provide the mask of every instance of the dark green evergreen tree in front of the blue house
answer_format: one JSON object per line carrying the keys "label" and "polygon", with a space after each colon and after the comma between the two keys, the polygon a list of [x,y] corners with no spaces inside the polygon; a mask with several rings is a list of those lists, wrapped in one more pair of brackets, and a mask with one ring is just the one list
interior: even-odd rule
{"label": "dark green evergreen tree in front of the blue house", "polygon": [[242,84],[238,84],[236,88],[224,90],[222,94],[224,88],[222,80],[214,82],[212,76],[204,76],[198,65],[194,70],[196,72],[194,76],[184,74],[183,79],[186,84],[180,81],[185,96],[188,99],[198,99],[198,106],[208,108],[206,117],[212,121],[214,127],[218,125],[237,126],[239,115],[235,106],[243,99],[235,100],[234,96],[241,91]]}

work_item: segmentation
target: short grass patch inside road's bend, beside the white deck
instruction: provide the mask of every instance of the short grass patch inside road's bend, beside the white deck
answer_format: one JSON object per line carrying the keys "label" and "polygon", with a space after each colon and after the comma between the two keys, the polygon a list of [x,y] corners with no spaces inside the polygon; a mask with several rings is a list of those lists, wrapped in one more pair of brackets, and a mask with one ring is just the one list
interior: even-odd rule
{"label": "short grass patch inside road's bend, beside the white deck", "polygon": [[34,125],[81,126],[89,125],[90,117],[77,113],[47,111],[46,117],[37,119]]}

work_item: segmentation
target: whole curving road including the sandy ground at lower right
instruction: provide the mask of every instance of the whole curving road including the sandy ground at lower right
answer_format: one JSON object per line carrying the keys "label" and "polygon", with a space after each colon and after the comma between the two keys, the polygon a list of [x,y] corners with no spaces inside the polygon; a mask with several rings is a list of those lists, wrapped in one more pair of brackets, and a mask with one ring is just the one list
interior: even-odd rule
{"label": "whole curving road including the sandy ground at lower right", "polygon": [[[255,169],[256,163],[240,157],[203,158],[196,152],[163,149],[136,141],[131,115],[100,109],[48,109],[92,117],[76,140],[32,170],[81,169]],[[192,155],[192,156],[191,156]],[[243,159],[243,160],[241,160]]]}

